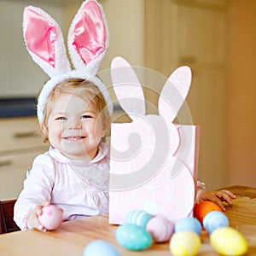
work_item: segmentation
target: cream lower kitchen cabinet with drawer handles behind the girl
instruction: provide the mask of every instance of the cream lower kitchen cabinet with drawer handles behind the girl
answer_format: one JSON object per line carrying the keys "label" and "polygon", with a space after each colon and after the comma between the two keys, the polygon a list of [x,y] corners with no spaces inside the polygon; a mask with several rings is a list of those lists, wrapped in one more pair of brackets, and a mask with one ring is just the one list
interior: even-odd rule
{"label": "cream lower kitchen cabinet with drawer handles behind the girl", "polygon": [[36,117],[0,119],[0,200],[17,198],[32,160],[49,148],[37,124]]}

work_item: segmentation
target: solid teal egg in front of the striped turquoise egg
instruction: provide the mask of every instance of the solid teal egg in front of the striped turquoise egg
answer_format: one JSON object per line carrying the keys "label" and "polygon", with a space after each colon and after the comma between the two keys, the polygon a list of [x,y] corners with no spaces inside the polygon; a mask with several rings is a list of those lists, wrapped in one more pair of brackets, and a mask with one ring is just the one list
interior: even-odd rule
{"label": "solid teal egg in front of the striped turquoise egg", "polygon": [[120,225],[116,230],[115,237],[122,247],[129,250],[144,250],[152,244],[150,234],[134,224]]}

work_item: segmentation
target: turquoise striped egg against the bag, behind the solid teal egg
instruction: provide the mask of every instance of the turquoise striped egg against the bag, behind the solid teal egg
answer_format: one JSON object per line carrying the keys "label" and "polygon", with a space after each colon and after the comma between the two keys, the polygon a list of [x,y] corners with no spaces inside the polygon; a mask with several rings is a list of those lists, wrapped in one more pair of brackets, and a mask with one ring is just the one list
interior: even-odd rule
{"label": "turquoise striped egg against the bag, behind the solid teal egg", "polygon": [[125,224],[136,224],[137,226],[145,229],[150,218],[152,218],[152,216],[148,212],[143,211],[143,210],[134,210],[134,211],[129,212],[125,216],[124,223]]}

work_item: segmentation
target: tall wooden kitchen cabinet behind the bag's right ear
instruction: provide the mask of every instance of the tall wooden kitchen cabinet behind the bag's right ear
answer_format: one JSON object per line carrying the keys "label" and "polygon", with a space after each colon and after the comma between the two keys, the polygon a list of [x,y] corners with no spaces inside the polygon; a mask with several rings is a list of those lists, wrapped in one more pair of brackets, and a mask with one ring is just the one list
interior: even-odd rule
{"label": "tall wooden kitchen cabinet behind the bag's right ear", "polygon": [[[199,178],[207,183],[207,189],[229,185],[226,172],[229,1],[147,0],[144,4],[145,66],[166,77],[179,66],[191,68],[187,105],[176,121],[201,126]],[[161,86],[155,84],[154,90],[160,91]],[[149,93],[148,100],[151,98]]]}

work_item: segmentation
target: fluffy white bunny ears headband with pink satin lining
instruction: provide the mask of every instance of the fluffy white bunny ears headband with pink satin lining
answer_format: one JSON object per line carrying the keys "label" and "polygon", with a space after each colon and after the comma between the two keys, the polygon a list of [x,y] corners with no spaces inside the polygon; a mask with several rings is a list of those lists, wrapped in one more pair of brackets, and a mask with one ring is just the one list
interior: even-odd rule
{"label": "fluffy white bunny ears headband with pink satin lining", "polygon": [[50,78],[38,96],[39,123],[43,122],[44,104],[50,92],[65,79],[87,79],[96,84],[104,96],[108,113],[113,113],[108,90],[101,79],[96,77],[109,44],[108,24],[99,3],[95,0],[84,1],[69,28],[67,45],[73,70],[67,59],[61,29],[44,10],[26,7],[23,33],[32,60]]}

